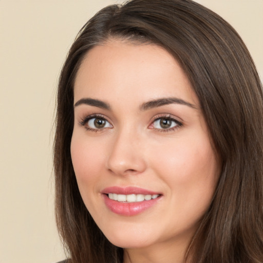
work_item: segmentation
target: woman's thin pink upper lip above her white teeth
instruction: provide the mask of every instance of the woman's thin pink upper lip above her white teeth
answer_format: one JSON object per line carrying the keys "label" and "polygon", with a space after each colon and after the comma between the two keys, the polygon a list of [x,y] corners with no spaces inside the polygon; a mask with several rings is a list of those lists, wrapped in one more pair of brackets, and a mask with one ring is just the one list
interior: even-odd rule
{"label": "woman's thin pink upper lip above her white teeth", "polygon": [[127,187],[120,187],[120,186],[110,186],[106,187],[103,189],[102,194],[118,194],[118,195],[131,195],[131,194],[136,194],[136,195],[160,195],[158,192],[154,192],[151,190],[143,189],[140,187],[135,187],[135,186],[127,186]]}

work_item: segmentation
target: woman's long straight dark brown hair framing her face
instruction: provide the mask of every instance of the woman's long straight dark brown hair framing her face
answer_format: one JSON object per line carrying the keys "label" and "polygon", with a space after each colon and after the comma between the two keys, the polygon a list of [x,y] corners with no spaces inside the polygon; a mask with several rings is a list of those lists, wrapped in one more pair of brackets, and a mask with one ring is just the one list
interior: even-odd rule
{"label": "woman's long straight dark brown hair framing her face", "polygon": [[54,142],[57,224],[72,263],[121,263],[87,211],[70,156],[73,86],[85,54],[111,37],[164,47],[196,92],[221,175],[189,245],[192,263],[263,262],[263,101],[251,56],[220,16],[191,0],[133,0],[102,9],[81,29],[61,72]]}

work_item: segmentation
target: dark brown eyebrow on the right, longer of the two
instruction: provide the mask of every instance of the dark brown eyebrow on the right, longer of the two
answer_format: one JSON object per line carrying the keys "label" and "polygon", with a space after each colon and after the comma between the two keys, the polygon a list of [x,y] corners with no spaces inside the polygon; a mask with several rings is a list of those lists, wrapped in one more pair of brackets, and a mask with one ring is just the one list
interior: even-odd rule
{"label": "dark brown eyebrow on the right, longer of the two", "polygon": [[170,97],[170,98],[161,98],[161,99],[145,102],[141,104],[140,110],[144,111],[144,110],[148,110],[148,109],[152,109],[152,108],[156,108],[156,107],[160,107],[160,106],[164,106],[168,104],[181,104],[181,105],[185,105],[185,106],[189,106],[191,108],[197,109],[195,105],[189,102],[186,102],[179,98]]}

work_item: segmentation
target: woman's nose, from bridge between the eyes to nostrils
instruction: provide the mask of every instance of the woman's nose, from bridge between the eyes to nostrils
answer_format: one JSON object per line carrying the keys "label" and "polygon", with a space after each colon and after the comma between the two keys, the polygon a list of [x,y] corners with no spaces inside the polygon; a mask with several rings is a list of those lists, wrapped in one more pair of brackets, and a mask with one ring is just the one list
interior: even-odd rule
{"label": "woman's nose, from bridge between the eyes to nostrils", "polygon": [[143,142],[131,130],[122,131],[112,140],[107,168],[116,175],[141,174],[146,169]]}

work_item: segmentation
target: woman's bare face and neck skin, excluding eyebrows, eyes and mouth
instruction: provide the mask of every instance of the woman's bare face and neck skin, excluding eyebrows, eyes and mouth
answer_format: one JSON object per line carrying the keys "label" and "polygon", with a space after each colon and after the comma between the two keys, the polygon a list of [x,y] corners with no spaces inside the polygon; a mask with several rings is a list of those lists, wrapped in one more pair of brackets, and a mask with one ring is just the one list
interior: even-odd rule
{"label": "woman's bare face and neck skin, excluding eyebrows, eyes and mouth", "polygon": [[[172,97],[189,104],[140,108]],[[124,248],[125,263],[182,262],[219,174],[189,80],[163,48],[110,40],[91,49],[80,66],[74,103],[85,98],[110,106],[74,107],[71,157],[88,211],[110,242]],[[83,123],[93,114],[106,120],[104,128],[93,126],[95,119]],[[171,128],[160,126],[158,118],[165,122],[167,116],[176,120]],[[105,205],[102,190],[109,186],[137,186],[161,196],[142,213],[123,216]]]}

